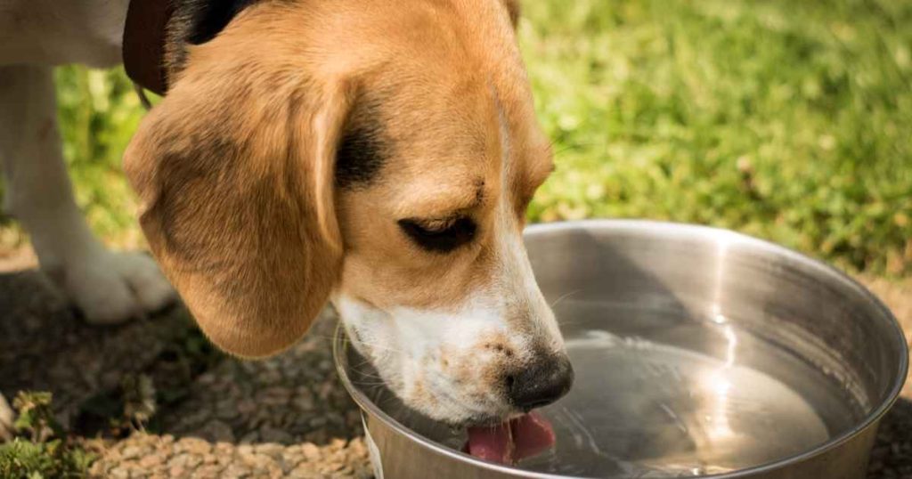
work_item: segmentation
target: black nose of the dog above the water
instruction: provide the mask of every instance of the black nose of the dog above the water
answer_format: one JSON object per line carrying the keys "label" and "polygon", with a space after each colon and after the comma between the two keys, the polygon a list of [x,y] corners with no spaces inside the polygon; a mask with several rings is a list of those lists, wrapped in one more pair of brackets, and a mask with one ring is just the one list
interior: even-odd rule
{"label": "black nose of the dog above the water", "polygon": [[524,370],[507,376],[507,397],[513,406],[531,411],[564,396],[573,378],[573,365],[565,354],[541,355]]}

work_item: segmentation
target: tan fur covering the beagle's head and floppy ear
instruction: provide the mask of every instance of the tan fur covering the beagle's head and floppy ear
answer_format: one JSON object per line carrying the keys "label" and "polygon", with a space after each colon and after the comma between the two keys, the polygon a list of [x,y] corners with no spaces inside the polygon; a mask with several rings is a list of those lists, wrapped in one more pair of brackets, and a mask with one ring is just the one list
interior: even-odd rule
{"label": "tan fur covering the beagle's head and floppy ear", "polygon": [[[520,234],[552,169],[506,5],[264,3],[191,48],[125,169],[153,253],[214,343],[284,349],[338,288],[446,309],[497,287],[495,245]],[[393,152],[376,181],[337,191],[340,131],[366,99]],[[498,217],[504,202],[516,221]],[[479,230],[448,255],[397,225],[452,213]]]}

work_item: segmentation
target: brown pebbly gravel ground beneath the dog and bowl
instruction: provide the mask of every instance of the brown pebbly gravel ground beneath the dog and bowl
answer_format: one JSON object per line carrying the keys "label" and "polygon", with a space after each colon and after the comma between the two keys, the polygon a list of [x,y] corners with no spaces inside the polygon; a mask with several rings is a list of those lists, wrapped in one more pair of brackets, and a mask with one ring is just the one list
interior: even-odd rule
{"label": "brown pebbly gravel ground beneath the dog and bowl", "polygon": [[[15,266],[28,266],[18,257]],[[0,261],[0,271],[12,265]],[[912,280],[860,279],[912,332]],[[0,390],[52,391],[67,429],[98,454],[90,476],[372,476],[358,409],[333,367],[331,311],[264,361],[212,350],[180,307],[89,327],[34,269],[0,273],[0,311]],[[112,438],[124,384],[140,375],[154,384],[158,411],[147,431]],[[99,432],[107,437],[93,439]],[[912,477],[912,384],[881,425],[869,477]]]}

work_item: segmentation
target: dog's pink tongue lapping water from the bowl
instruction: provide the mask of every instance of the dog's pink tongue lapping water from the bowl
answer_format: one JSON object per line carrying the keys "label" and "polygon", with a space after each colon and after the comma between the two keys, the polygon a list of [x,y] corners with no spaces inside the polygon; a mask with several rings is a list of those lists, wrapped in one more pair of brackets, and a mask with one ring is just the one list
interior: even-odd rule
{"label": "dog's pink tongue lapping water from the bowl", "polygon": [[553,445],[551,423],[530,412],[495,426],[469,428],[469,441],[463,450],[485,461],[511,464]]}

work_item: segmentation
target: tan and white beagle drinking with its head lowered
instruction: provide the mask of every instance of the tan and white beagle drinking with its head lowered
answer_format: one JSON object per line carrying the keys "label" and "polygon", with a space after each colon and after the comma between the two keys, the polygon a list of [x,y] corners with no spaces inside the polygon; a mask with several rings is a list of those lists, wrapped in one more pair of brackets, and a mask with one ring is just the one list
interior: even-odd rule
{"label": "tan and white beagle drinking with its head lowered", "polygon": [[0,0],[5,204],[89,322],[162,307],[170,284],[215,345],[262,358],[329,302],[435,420],[565,394],[573,368],[523,247],[554,161],[514,0],[172,5],[168,91],[123,163],[156,266],[89,233],[54,120],[53,66],[116,65],[128,2]]}

